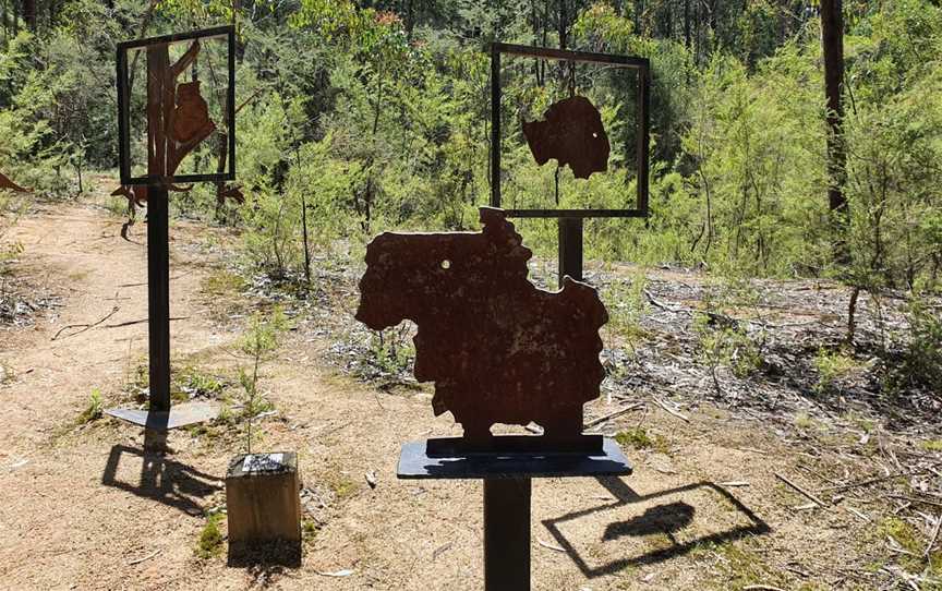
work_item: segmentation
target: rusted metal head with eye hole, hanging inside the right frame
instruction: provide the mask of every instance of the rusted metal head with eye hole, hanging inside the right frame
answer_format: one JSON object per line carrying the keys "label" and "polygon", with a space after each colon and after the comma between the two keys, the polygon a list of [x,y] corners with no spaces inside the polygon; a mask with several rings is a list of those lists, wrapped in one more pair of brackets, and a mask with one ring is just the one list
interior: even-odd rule
{"label": "rusted metal head with eye hole, hanging inside the right frame", "polygon": [[556,158],[568,165],[577,179],[608,170],[608,135],[599,110],[583,96],[550,106],[543,121],[523,122],[523,135],[536,164]]}

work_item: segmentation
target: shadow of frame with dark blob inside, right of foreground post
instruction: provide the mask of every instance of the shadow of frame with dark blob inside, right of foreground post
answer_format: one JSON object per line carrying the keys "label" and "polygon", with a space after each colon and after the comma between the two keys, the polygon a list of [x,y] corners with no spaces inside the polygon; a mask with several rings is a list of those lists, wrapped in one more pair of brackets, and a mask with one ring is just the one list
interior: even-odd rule
{"label": "shadow of frame with dark blob inside, right of foreground post", "polygon": [[[765,521],[752,512],[749,507],[744,505],[738,498],[733,496],[728,491],[713,482],[702,481],[686,484],[675,489],[666,489],[649,495],[639,495],[630,486],[625,484],[620,479],[613,477],[599,478],[599,482],[616,498],[614,503],[599,505],[590,509],[572,511],[561,517],[545,519],[543,526],[550,531],[551,535],[556,540],[556,543],[563,547],[569,557],[576,563],[576,566],[587,578],[595,578],[604,575],[612,575],[628,567],[637,567],[642,565],[651,565],[683,556],[700,544],[723,544],[750,535],[764,535],[772,531]],[[696,508],[684,502],[667,503],[647,509],[642,515],[633,517],[627,521],[617,521],[609,523],[605,528],[602,536],[605,541],[612,541],[624,536],[641,536],[650,534],[664,534],[671,541],[671,546],[659,548],[638,556],[619,558],[607,564],[593,567],[585,558],[583,558],[572,543],[566,539],[559,530],[559,524],[567,521],[572,521],[581,517],[585,517],[599,511],[616,509],[632,503],[641,503],[657,497],[663,497],[672,494],[695,491],[697,489],[706,489],[721,495],[730,504],[735,510],[749,520],[749,524],[738,526],[726,531],[703,535],[687,542],[678,542],[675,533],[693,522]]]}

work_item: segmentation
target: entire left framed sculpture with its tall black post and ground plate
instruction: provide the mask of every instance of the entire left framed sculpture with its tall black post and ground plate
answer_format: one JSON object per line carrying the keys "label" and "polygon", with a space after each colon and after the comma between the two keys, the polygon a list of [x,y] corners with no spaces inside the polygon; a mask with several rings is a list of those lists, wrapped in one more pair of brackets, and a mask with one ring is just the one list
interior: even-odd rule
{"label": "entire left framed sculpture with its tall black post and ground plate", "polygon": [[[203,53],[203,43],[222,39],[228,47],[228,76],[225,87],[225,108],[217,118],[221,128],[209,118],[206,100],[201,95],[200,82],[179,80],[192,69]],[[184,44],[183,53],[171,61],[171,46]],[[209,47],[209,46],[206,46]],[[235,28],[214,27],[191,33],[181,33],[133,41],[122,41],[117,47],[118,61],[118,154],[121,185],[114,195],[128,198],[130,214],[122,227],[126,238],[128,227],[133,222],[134,208],[147,204],[147,333],[148,333],[148,408],[108,409],[112,417],[145,427],[155,442],[162,446],[167,430],[210,420],[218,413],[212,405],[197,407],[183,403],[173,407],[170,399],[170,252],[168,192],[189,191],[192,188],[178,183],[232,181],[234,168],[234,111],[235,102]],[[129,69],[130,51],[142,51],[147,57],[147,172],[132,174],[131,158],[131,100],[132,71]],[[207,56],[212,68],[212,52]],[[176,53],[174,53],[176,55]],[[214,76],[214,81],[216,76]],[[179,173],[181,162],[214,132],[225,134],[229,141],[229,168],[216,173]],[[173,408],[171,408],[173,407]]]}

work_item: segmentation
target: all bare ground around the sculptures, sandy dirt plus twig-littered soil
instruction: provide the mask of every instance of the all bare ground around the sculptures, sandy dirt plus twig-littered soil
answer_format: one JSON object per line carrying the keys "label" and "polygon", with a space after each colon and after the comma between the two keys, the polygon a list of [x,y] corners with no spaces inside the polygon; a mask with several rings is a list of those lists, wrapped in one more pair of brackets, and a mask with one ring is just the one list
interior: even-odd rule
{"label": "all bare ground around the sculptures, sandy dirt plus twig-littered soil", "polygon": [[[295,329],[261,383],[277,413],[261,423],[258,447],[300,458],[302,566],[229,567],[225,542],[221,554],[201,556],[206,516],[225,506],[221,479],[243,450],[244,425],[176,431],[174,453],[159,457],[142,453],[140,429],[78,420],[94,389],[106,407],[133,405],[146,364],[146,323],[137,322],[146,318],[145,231],[140,224],[125,241],[120,229],[120,219],[85,203],[38,206],[13,232],[25,252],[4,285],[52,304],[36,305],[28,322],[0,325],[0,588],[483,587],[481,483],[395,475],[402,443],[459,429],[449,415],[432,417],[424,385],[363,381],[346,371],[354,363],[337,362],[359,354],[338,341],[338,326],[354,325],[355,291],[326,270],[311,300],[289,304]],[[234,399],[237,369],[246,363],[239,337],[252,311],[276,298],[232,275],[232,240],[173,222],[171,315],[179,319],[171,333],[174,364],[214,376],[220,396]],[[591,420],[643,402],[593,427],[621,434],[636,472],[534,481],[533,588],[939,589],[938,422],[902,424],[884,407],[855,403],[853,388],[818,399],[810,378],[774,371],[742,381],[721,370],[724,389],[715,391],[712,372],[691,362],[692,328],[672,319],[688,315],[683,309],[697,305],[705,282],[695,273],[650,272],[649,339],[635,353],[606,352],[607,363],[624,367],[587,407]],[[846,293],[835,286],[763,289],[806,297],[760,322],[805,323],[782,330],[840,326],[833,307]],[[797,347],[770,346],[766,357],[786,377],[809,371]],[[931,403],[920,408],[932,415]]]}

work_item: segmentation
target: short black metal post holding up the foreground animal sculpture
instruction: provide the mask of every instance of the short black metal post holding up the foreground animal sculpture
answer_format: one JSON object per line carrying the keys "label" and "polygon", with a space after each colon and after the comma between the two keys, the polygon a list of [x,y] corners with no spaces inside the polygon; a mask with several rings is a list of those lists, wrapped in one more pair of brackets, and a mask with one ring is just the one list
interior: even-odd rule
{"label": "short black metal post holding up the foreground animal sculpture", "polygon": [[530,591],[530,479],[484,479],[484,589]]}

